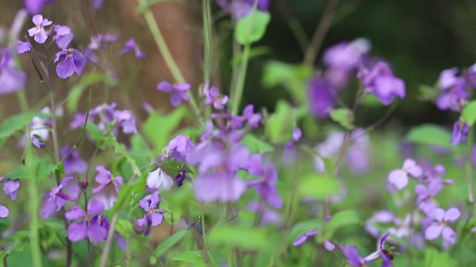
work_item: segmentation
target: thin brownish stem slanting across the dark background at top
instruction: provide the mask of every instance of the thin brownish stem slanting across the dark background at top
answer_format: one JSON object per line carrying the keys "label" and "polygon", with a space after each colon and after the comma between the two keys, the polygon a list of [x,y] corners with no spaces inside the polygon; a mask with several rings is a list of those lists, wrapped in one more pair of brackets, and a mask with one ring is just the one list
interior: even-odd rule
{"label": "thin brownish stem slanting across the dark background at top", "polygon": [[321,17],[321,21],[319,21],[319,24],[317,24],[316,31],[312,35],[312,40],[304,55],[304,64],[314,64],[317,53],[319,53],[319,49],[321,49],[322,41],[324,41],[327,31],[331,27],[335,9],[338,7],[339,1],[340,0],[329,0],[327,2],[326,9],[324,9],[324,14]]}

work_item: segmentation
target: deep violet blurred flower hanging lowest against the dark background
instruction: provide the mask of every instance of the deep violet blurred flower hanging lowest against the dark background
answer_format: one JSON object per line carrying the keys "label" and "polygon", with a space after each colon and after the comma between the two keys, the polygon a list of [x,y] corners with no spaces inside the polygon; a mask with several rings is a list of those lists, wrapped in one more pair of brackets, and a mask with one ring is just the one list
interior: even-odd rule
{"label": "deep violet blurred flower hanging lowest against the dark background", "polygon": [[317,75],[309,83],[308,97],[312,114],[318,119],[326,119],[335,107],[337,91],[322,76]]}

